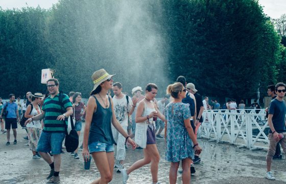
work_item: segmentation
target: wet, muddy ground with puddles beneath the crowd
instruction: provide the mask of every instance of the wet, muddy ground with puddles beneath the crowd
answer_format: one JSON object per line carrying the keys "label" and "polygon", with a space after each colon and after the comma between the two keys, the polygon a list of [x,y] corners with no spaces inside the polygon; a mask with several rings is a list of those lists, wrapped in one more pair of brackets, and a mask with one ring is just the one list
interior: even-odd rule
{"label": "wet, muddy ground with puddles beneath the crowd", "polygon": [[[83,124],[84,125],[84,124]],[[84,127],[84,126],[83,126]],[[0,134],[0,183],[46,183],[46,175],[50,167],[43,159],[32,159],[32,152],[22,137],[26,131],[18,131],[18,144],[6,146],[6,134]],[[12,132],[11,132],[12,133]],[[13,135],[11,135],[13,142]],[[82,142],[80,136],[80,143]],[[273,183],[286,184],[286,162],[283,159],[273,160],[272,171],[276,176],[275,181],[266,179],[266,152],[263,150],[250,151],[240,149],[230,144],[217,144],[205,139],[199,139],[203,148],[202,162],[196,166],[196,173],[192,176],[191,183]],[[158,180],[160,183],[169,183],[170,163],[164,160],[164,140],[157,140],[157,147],[161,156],[159,163]],[[63,149],[63,151],[65,151]],[[94,162],[90,170],[84,170],[83,159],[75,159],[69,153],[62,154],[60,171],[61,183],[90,183],[99,177],[99,172]],[[126,167],[137,159],[143,157],[142,151],[127,150]],[[113,173],[110,183],[122,183],[120,173]],[[150,165],[142,167],[129,176],[128,183],[152,183]],[[181,174],[178,174],[177,183],[181,183]]]}

